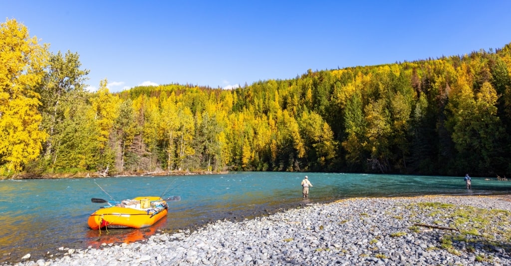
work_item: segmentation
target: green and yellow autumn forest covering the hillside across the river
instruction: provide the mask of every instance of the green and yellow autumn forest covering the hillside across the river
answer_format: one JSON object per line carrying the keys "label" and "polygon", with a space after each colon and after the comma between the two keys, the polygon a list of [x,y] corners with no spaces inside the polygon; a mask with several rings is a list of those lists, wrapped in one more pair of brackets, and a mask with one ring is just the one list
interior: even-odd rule
{"label": "green and yellow autumn forest covering the hillside across the river", "polygon": [[511,176],[511,43],[232,90],[85,90],[78,53],[0,28],[0,176],[287,171]]}

